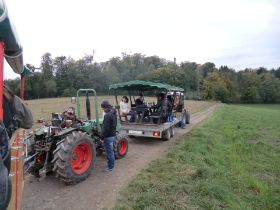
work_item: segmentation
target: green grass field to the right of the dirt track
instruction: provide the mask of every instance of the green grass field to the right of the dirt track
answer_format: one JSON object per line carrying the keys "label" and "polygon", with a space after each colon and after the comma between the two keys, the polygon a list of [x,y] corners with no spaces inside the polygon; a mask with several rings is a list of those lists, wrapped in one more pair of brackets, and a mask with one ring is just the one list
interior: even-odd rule
{"label": "green grass field to the right of the dirt track", "polygon": [[142,171],[114,209],[280,209],[279,125],[280,105],[221,105]]}

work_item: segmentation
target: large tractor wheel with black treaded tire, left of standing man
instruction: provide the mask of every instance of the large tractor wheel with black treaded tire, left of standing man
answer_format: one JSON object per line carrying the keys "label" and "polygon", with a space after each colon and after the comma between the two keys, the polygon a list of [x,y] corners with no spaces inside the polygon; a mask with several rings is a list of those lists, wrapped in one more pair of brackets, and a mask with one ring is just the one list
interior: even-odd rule
{"label": "large tractor wheel with black treaded tire, left of standing man", "polygon": [[[79,156],[78,153],[85,148],[89,152],[88,155],[91,154],[91,159],[88,159],[87,161],[84,159],[82,161],[81,164],[85,164],[82,166],[83,169],[75,168],[73,164],[77,159],[81,159],[81,156]],[[74,151],[75,153],[73,153]],[[53,154],[53,171],[55,172],[56,177],[64,181],[66,184],[76,184],[85,180],[94,168],[96,159],[94,140],[86,133],[74,131],[67,135],[64,141],[57,146]],[[80,154],[83,155],[84,153],[80,152]],[[86,158],[87,157],[88,156],[86,156]]]}

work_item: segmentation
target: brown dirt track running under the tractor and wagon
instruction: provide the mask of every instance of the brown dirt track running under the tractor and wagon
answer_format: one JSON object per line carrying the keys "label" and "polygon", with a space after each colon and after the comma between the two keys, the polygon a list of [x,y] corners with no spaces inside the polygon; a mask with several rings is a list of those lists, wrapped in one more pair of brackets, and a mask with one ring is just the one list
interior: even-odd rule
{"label": "brown dirt track running under the tractor and wagon", "polygon": [[26,177],[23,209],[103,209],[111,208],[118,193],[148,164],[161,157],[179,137],[208,117],[216,105],[191,117],[186,129],[176,128],[175,137],[169,141],[137,138],[129,140],[126,158],[116,162],[113,172],[104,172],[105,156],[97,157],[96,168],[84,182],[65,186],[54,176],[42,181]]}

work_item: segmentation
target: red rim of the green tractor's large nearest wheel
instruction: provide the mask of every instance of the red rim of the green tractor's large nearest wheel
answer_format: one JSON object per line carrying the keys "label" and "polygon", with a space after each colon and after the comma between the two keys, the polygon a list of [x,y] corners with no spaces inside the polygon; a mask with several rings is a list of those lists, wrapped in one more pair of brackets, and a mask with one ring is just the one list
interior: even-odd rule
{"label": "red rim of the green tractor's large nearest wheel", "polygon": [[75,146],[71,154],[71,168],[76,174],[83,174],[88,170],[92,161],[92,148],[88,143]]}

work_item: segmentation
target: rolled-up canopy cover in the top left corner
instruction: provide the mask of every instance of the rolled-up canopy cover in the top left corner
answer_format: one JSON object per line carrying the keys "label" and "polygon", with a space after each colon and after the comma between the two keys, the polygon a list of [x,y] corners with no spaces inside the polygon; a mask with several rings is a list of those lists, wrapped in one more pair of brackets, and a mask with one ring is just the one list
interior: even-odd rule
{"label": "rolled-up canopy cover in the top left corner", "polygon": [[4,42],[6,61],[15,73],[21,74],[24,71],[22,47],[4,0],[0,0],[0,41]]}

